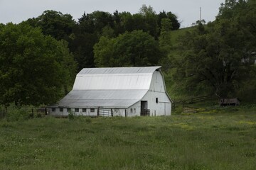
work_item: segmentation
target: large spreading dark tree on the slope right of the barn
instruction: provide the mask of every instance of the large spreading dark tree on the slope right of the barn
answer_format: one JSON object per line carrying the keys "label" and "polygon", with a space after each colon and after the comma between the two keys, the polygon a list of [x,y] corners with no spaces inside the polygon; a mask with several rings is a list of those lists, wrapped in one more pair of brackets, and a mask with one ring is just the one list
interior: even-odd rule
{"label": "large spreading dark tree on the slope right of the barn", "polygon": [[[217,96],[226,97],[237,89],[250,72],[247,36],[232,19],[222,19],[206,29],[202,23],[183,37],[186,51],[179,72],[183,84],[195,92],[198,87],[212,88]],[[180,74],[181,75],[181,74]]]}

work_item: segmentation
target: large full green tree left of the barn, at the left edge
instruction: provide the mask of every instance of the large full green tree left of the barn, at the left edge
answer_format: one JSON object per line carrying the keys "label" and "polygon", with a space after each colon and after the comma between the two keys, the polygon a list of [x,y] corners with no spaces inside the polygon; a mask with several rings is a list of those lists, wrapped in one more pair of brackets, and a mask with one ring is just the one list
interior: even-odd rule
{"label": "large full green tree left of the barn, at the left edge", "polygon": [[75,69],[66,42],[26,23],[8,23],[0,40],[0,103],[38,106],[57,101]]}

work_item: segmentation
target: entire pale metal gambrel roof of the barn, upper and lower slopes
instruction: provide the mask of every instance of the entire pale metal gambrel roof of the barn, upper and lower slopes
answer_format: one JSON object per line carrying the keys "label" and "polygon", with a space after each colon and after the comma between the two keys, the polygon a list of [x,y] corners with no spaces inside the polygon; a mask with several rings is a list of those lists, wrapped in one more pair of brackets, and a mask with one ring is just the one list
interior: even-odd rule
{"label": "entire pale metal gambrel roof of the barn, upper and lower slopes", "polygon": [[128,108],[140,101],[161,67],[82,69],[73,90],[58,103],[65,108]]}

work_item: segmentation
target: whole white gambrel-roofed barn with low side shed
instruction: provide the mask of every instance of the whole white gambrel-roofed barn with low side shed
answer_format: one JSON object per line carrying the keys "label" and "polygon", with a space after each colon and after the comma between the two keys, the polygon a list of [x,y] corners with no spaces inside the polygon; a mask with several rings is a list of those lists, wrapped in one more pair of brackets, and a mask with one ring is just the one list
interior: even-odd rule
{"label": "whole white gambrel-roofed barn with low side shed", "polygon": [[85,68],[72,91],[49,106],[50,115],[123,116],[171,115],[161,67]]}

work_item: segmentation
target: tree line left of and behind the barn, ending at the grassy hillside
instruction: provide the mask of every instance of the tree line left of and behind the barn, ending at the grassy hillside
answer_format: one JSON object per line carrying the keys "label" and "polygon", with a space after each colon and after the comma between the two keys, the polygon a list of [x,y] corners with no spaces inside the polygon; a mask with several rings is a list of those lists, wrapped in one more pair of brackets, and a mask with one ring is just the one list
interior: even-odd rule
{"label": "tree line left of and behind the barn, ending at the grassy hillside", "polygon": [[78,22],[48,10],[18,24],[0,24],[0,104],[54,103],[85,67],[158,64],[163,19],[170,30],[180,27],[174,13],[145,5],[135,14],[83,13]]}

